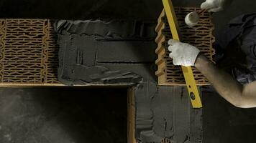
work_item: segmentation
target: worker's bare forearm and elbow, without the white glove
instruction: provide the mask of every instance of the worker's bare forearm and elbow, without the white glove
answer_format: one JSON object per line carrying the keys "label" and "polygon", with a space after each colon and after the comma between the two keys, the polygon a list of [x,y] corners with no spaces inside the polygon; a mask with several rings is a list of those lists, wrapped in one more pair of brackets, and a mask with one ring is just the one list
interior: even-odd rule
{"label": "worker's bare forearm and elbow, without the white glove", "polygon": [[195,66],[228,102],[236,107],[256,107],[256,82],[243,86],[203,55],[198,56]]}

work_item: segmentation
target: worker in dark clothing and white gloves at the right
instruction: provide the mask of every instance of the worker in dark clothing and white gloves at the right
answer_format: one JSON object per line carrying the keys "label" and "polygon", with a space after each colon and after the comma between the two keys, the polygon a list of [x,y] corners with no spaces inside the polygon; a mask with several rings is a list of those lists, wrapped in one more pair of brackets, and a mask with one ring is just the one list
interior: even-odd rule
{"label": "worker in dark clothing and white gloves at the right", "polygon": [[[209,9],[211,12],[220,11],[223,6],[227,4],[224,0],[206,0],[201,4],[201,8]],[[233,24],[232,24],[233,22]],[[170,58],[173,59],[173,64],[181,66],[195,66],[202,74],[209,80],[216,92],[221,97],[224,97],[228,102],[235,107],[252,108],[256,107],[256,15],[247,14],[239,16],[234,19],[227,27],[225,34],[221,36],[223,39],[219,40],[219,45],[225,46],[222,49],[231,51],[226,52],[230,55],[238,53],[245,55],[245,60],[236,57],[229,58],[230,63],[235,63],[234,67],[239,67],[241,61],[245,61],[247,68],[247,83],[238,82],[227,71],[214,64],[203,54],[199,49],[191,44],[182,43],[170,39],[168,41],[168,50],[170,51]],[[225,43],[226,42],[226,43]],[[225,56],[225,55],[224,55]],[[226,58],[227,59],[227,58]],[[227,61],[227,60],[226,60]],[[221,62],[221,61],[220,61]],[[223,63],[223,62],[222,62]],[[227,62],[226,62],[227,63]],[[254,66],[255,65],[255,66]],[[239,69],[239,68],[237,68]],[[242,71],[242,70],[241,70]],[[248,76],[249,73],[249,76]],[[239,77],[239,75],[238,75]]]}

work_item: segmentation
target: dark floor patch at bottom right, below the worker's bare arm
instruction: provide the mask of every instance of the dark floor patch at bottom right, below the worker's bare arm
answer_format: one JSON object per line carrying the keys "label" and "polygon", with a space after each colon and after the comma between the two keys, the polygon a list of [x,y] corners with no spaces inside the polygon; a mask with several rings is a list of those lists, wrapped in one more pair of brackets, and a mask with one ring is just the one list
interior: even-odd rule
{"label": "dark floor patch at bottom right, below the worker's bare arm", "polygon": [[256,109],[240,109],[219,94],[204,92],[203,129],[206,143],[254,143]]}

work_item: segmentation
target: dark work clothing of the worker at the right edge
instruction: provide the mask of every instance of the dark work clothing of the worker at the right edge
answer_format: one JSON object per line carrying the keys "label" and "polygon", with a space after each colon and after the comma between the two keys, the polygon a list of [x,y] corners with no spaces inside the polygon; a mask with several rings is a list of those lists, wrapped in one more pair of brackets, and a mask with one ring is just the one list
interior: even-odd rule
{"label": "dark work clothing of the worker at the right edge", "polygon": [[[233,76],[242,84],[247,84],[256,80],[256,14],[244,14],[238,16],[227,24],[223,33],[216,36],[217,54],[225,56],[227,47],[232,42],[239,43],[241,54],[245,55],[245,69],[237,66],[232,68]],[[233,51],[228,52],[234,52]],[[221,51],[221,52],[219,52]],[[232,54],[232,53],[231,53]],[[219,60],[219,59],[218,59]],[[218,61],[217,60],[217,61]]]}

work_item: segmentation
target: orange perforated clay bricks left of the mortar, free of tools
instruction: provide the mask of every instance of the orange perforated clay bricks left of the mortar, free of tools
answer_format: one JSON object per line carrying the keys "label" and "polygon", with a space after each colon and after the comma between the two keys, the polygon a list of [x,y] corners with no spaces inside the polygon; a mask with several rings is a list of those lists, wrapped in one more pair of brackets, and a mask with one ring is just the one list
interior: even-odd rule
{"label": "orange perforated clay bricks left of the mortar, free of tools", "polygon": [[0,19],[0,84],[60,84],[49,19]]}

